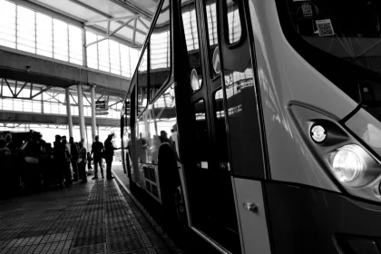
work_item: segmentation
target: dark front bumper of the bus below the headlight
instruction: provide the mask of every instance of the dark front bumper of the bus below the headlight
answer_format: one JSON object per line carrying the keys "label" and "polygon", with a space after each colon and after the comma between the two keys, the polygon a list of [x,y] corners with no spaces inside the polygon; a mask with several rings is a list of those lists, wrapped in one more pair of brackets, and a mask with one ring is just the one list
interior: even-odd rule
{"label": "dark front bumper of the bus below the headlight", "polygon": [[381,254],[381,204],[281,182],[266,197],[274,253]]}

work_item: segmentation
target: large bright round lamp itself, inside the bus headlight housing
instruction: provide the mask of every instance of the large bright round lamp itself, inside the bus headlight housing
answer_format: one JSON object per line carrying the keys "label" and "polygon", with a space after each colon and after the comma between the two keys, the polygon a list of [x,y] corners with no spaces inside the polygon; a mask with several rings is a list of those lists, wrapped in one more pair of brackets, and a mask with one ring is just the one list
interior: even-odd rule
{"label": "large bright round lamp itself, inside the bus headlight housing", "polygon": [[333,158],[333,171],[338,181],[349,183],[357,180],[365,168],[365,162],[357,145],[346,145],[338,149]]}

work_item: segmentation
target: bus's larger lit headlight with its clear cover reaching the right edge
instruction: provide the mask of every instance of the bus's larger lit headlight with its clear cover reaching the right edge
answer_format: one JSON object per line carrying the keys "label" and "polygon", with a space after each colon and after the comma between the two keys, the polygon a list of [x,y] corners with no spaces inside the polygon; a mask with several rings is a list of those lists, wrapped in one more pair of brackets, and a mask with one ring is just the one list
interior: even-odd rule
{"label": "bus's larger lit headlight with its clear cover reaching the right edge", "polygon": [[381,173],[376,160],[357,144],[347,144],[330,154],[331,171],[337,181],[349,187],[362,187]]}

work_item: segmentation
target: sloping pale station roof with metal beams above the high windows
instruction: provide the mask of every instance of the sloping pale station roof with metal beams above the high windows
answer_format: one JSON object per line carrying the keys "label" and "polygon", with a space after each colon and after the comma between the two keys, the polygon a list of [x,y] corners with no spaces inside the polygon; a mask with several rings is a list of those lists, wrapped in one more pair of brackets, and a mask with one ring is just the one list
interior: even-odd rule
{"label": "sloping pale station roof with metal beams above the high windows", "polygon": [[140,48],[158,0],[27,0],[82,22],[88,31]]}

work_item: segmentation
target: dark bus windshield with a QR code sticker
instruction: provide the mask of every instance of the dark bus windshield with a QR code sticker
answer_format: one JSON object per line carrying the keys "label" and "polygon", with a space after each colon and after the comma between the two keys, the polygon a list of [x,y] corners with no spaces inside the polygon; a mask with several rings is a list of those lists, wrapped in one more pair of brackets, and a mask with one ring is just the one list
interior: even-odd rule
{"label": "dark bus windshield with a QR code sticker", "polygon": [[381,1],[286,1],[298,34],[308,44],[381,73]]}

